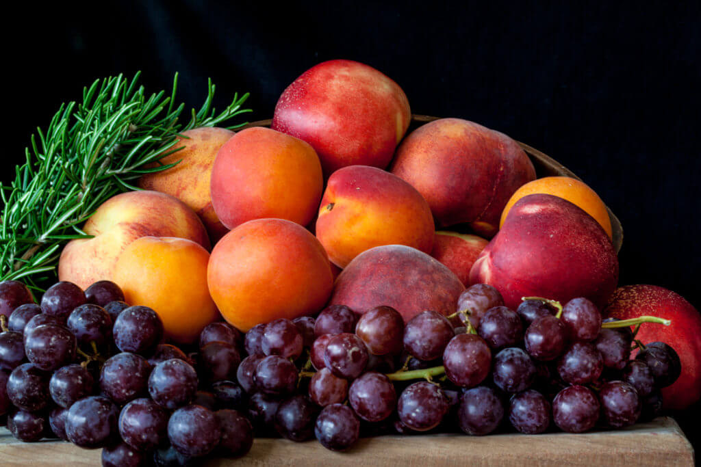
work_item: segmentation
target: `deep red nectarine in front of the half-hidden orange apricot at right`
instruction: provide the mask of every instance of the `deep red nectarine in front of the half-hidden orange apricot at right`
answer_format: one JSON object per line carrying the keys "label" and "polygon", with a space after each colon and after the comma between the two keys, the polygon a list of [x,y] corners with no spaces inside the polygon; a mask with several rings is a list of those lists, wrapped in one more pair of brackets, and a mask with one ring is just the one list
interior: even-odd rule
{"label": "deep red nectarine in front of the half-hidden orange apricot at right", "polygon": [[517,201],[494,239],[472,265],[471,284],[496,287],[516,309],[524,296],[585,297],[599,307],[615,290],[618,258],[601,225],[561,197]]}

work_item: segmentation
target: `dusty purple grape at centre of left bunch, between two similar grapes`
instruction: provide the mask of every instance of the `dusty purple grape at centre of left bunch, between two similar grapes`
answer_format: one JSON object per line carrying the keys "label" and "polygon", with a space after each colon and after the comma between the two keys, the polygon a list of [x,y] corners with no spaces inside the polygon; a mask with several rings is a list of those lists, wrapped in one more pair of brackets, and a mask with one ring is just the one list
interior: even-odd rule
{"label": "dusty purple grape at centre of left bunch, between two similar grapes", "polygon": [[100,371],[100,389],[123,405],[146,395],[151,365],[137,354],[122,352],[107,359]]}

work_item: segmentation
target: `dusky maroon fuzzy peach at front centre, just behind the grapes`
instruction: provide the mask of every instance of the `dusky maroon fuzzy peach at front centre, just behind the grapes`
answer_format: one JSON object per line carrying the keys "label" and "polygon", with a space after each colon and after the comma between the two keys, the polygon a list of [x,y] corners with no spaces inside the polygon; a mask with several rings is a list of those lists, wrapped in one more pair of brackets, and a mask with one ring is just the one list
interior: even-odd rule
{"label": "dusky maroon fuzzy peach at front centre, just behind the grapes", "polygon": [[404,245],[376,246],[341,272],[329,304],[360,314],[386,305],[407,322],[426,310],[454,313],[463,290],[460,279],[426,253]]}

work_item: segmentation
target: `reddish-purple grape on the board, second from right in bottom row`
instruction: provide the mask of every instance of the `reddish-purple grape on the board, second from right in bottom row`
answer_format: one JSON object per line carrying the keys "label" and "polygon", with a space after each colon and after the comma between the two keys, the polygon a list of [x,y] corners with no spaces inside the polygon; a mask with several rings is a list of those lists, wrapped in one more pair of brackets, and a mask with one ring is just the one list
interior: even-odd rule
{"label": "reddish-purple grape on the board, second from right in bottom row", "polygon": [[552,400],[552,419],[568,433],[583,433],[594,428],[599,419],[599,400],[585,386],[569,386]]}

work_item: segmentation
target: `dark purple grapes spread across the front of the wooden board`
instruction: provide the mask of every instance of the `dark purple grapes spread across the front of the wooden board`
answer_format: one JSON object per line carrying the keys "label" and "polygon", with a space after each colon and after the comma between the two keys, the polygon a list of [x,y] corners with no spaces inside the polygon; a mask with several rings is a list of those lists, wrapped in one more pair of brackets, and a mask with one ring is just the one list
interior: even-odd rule
{"label": "dark purple grapes spread across the front of the wooden board", "polygon": [[331,305],[245,334],[211,323],[192,347],[123,300],[108,281],[59,282],[0,316],[0,415],[15,437],[102,447],[104,465],[184,465],[243,456],[254,435],[343,451],[382,433],[580,433],[657,416],[681,372],[667,344],[635,340],[631,326],[655,319],[602,320],[585,298],[512,310],[484,284],[451,316]]}

